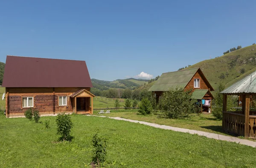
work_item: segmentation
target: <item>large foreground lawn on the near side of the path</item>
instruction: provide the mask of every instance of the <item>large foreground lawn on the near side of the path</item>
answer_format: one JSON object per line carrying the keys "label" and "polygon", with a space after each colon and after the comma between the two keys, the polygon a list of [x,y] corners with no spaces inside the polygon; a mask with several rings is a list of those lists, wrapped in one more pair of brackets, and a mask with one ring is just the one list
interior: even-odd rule
{"label": "large foreground lawn on the near side of the path", "polygon": [[25,118],[0,116],[0,167],[89,167],[96,130],[108,139],[111,167],[256,167],[255,148],[108,118],[73,115],[71,142]]}

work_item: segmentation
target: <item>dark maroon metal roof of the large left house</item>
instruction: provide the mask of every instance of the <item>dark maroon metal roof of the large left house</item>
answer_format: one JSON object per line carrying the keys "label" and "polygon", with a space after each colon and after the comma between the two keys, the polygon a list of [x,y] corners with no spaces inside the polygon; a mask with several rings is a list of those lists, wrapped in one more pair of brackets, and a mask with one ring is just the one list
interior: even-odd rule
{"label": "dark maroon metal roof of the large left house", "polygon": [[85,61],[7,55],[3,87],[92,87]]}

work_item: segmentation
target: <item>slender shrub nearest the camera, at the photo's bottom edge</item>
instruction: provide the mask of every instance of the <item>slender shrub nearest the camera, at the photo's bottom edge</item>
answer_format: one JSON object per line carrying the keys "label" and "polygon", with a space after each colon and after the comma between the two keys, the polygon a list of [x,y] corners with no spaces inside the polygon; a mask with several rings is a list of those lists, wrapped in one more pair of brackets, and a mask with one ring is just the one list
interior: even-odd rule
{"label": "slender shrub nearest the camera, at the photo's bottom edge", "polygon": [[93,157],[92,161],[100,167],[106,161],[107,156],[107,139],[98,136],[98,133],[93,135]]}

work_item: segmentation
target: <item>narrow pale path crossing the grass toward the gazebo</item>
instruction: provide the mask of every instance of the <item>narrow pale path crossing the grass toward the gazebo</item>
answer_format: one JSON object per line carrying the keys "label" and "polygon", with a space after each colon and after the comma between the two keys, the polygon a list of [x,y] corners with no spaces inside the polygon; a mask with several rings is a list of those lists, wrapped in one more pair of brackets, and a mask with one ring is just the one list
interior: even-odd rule
{"label": "narrow pale path crossing the grass toward the gazebo", "polygon": [[[94,115],[87,115],[87,116],[94,116]],[[96,116],[96,117],[107,117],[107,116]],[[253,141],[250,141],[247,139],[236,138],[233,136],[225,136],[225,135],[220,135],[217,133],[207,133],[204,131],[189,130],[186,128],[171,127],[171,126],[167,126],[167,125],[158,125],[158,124],[154,124],[154,123],[150,123],[150,122],[141,122],[141,121],[132,120],[132,119],[123,119],[120,117],[108,117],[108,118],[127,121],[127,122],[140,123],[140,124],[144,124],[144,125],[148,125],[148,126],[156,127],[156,128],[161,128],[161,129],[165,129],[165,130],[174,130],[174,131],[183,132],[183,133],[198,134],[201,136],[206,136],[207,138],[218,139],[218,140],[223,140],[223,141],[228,141],[228,142],[236,142],[239,144],[248,145],[253,148],[256,148],[256,142],[253,142]]]}

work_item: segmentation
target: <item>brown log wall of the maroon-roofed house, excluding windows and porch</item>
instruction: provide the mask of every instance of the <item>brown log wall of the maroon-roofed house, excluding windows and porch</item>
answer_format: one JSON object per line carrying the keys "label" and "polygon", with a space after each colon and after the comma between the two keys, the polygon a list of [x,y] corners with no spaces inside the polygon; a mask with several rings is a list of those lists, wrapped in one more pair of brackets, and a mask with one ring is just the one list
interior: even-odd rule
{"label": "brown log wall of the maroon-roofed house, excluding windows and porch", "polygon": [[[70,95],[80,89],[90,92],[90,88],[82,87],[9,87],[6,88],[6,113],[9,116],[23,116],[29,107],[22,107],[23,97],[33,97],[33,109],[40,114],[72,113],[72,99]],[[67,105],[59,106],[58,97],[67,96]],[[54,106],[55,105],[55,106]]]}

